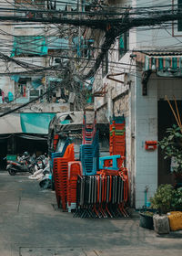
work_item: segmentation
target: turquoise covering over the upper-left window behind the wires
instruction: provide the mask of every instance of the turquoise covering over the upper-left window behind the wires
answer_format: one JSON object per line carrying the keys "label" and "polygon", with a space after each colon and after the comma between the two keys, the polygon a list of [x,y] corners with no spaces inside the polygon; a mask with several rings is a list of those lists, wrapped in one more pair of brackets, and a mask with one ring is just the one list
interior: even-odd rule
{"label": "turquoise covering over the upper-left window behind the wires", "polygon": [[45,37],[14,37],[14,48],[11,57],[35,57],[47,54]]}

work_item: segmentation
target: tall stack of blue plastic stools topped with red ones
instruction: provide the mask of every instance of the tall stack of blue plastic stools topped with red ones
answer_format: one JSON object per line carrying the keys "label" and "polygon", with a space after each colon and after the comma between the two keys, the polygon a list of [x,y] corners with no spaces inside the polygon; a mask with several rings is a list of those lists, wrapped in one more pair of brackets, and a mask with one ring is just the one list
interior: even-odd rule
{"label": "tall stack of blue plastic stools topped with red ones", "polygon": [[96,175],[99,158],[99,138],[96,132],[96,112],[92,125],[86,124],[86,112],[83,120],[83,141],[80,145],[80,161],[83,166],[83,175]]}

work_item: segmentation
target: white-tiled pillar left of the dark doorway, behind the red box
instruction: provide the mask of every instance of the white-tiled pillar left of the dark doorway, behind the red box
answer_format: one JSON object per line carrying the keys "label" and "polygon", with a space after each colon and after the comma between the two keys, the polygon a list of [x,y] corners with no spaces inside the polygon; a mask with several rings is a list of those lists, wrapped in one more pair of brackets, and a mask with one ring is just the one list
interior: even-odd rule
{"label": "white-tiled pillar left of the dark doorway, behind the red box", "polygon": [[147,151],[146,141],[157,141],[157,82],[150,80],[147,96],[142,96],[141,80],[136,77],[136,208],[145,205],[157,189],[157,150]]}

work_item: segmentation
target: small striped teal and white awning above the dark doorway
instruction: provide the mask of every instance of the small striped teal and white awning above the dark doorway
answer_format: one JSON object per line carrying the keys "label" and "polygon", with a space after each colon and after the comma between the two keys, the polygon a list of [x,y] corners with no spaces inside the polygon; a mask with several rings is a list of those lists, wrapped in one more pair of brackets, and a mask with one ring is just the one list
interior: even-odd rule
{"label": "small striped teal and white awning above the dark doorway", "polygon": [[134,52],[136,61],[141,63],[144,70],[181,70],[182,52],[181,51],[145,51]]}

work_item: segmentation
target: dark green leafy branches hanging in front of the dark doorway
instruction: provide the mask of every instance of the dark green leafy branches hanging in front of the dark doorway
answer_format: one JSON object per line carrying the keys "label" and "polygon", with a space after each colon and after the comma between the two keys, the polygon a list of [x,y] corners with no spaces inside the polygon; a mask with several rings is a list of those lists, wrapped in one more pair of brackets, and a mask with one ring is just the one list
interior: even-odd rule
{"label": "dark green leafy branches hanging in front of the dark doorway", "polygon": [[172,128],[167,129],[167,136],[158,142],[162,151],[165,153],[165,159],[174,157],[177,162],[176,172],[182,172],[182,133],[180,128],[173,124]]}

